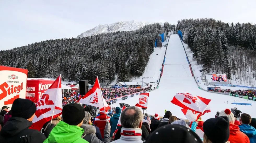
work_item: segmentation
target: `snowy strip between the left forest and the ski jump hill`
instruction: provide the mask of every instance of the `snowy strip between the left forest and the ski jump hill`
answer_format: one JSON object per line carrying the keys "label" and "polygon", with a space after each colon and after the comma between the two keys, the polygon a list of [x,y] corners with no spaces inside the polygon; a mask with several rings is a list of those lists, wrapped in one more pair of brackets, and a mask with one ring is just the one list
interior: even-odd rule
{"label": "snowy strip between the left forest and the ski jump hill", "polygon": [[[165,42],[163,42],[162,45],[165,45],[167,43],[168,38],[166,38]],[[157,86],[156,80],[159,81],[159,77],[161,74],[160,69],[162,68],[162,63],[164,61],[165,50],[166,47],[164,46],[162,46],[161,48],[154,48],[154,52],[149,57],[148,65],[146,66],[143,75],[140,77],[134,77],[132,81],[138,82],[139,84],[142,84],[141,81],[152,84],[152,89],[154,89],[154,86]],[[150,82],[155,82],[155,84]],[[145,86],[144,83],[143,86]]]}

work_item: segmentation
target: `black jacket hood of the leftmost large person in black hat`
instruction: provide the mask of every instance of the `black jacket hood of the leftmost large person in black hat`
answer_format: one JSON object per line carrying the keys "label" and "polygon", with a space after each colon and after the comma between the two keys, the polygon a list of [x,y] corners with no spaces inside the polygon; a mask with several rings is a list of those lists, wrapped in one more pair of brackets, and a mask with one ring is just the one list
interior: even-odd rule
{"label": "black jacket hood of the leftmost large person in black hat", "polygon": [[2,127],[0,134],[3,137],[13,137],[31,125],[32,122],[28,121],[27,119],[11,117],[10,120],[6,122],[5,126]]}

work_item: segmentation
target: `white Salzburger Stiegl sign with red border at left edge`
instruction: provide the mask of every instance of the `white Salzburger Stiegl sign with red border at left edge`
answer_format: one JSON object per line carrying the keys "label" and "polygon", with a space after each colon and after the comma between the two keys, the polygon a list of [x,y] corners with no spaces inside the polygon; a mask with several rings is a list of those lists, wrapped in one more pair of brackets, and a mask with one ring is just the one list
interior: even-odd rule
{"label": "white Salzburger Stiegl sign with red border at left edge", "polygon": [[0,66],[1,107],[11,107],[15,99],[26,98],[27,72],[26,69]]}

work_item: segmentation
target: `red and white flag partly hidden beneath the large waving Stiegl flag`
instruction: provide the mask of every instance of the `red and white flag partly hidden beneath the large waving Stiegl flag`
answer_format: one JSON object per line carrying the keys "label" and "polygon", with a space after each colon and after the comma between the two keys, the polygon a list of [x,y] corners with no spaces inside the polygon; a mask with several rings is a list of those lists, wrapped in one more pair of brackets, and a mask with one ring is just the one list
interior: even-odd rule
{"label": "red and white flag partly hidden beneath the large waving Stiegl flag", "polygon": [[197,121],[202,115],[204,115],[205,113],[211,112],[210,107],[207,106],[205,108],[205,111],[203,113],[199,113],[199,112],[195,112],[195,111],[191,111],[188,109],[182,109],[181,110],[183,112],[183,114],[185,115],[185,117],[189,120],[189,122],[194,122]]}

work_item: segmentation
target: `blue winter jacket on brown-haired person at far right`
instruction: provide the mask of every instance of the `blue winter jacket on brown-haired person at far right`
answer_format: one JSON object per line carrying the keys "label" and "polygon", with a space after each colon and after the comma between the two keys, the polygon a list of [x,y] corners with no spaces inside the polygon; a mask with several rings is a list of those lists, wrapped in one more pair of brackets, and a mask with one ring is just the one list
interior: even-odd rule
{"label": "blue winter jacket on brown-haired person at far right", "polygon": [[250,139],[250,143],[256,143],[256,129],[251,125],[239,125],[240,131],[245,133]]}

